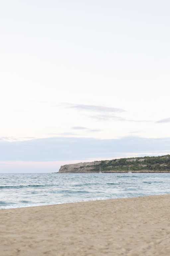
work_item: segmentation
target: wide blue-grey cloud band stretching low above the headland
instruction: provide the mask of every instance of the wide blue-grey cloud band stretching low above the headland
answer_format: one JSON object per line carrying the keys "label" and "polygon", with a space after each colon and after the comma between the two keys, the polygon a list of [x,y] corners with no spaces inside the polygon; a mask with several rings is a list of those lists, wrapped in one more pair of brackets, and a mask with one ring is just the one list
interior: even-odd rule
{"label": "wide blue-grey cloud band stretching low above the headland", "polygon": [[123,137],[94,139],[52,137],[28,141],[0,141],[0,161],[73,161],[115,158],[128,153],[170,150],[170,138]]}

